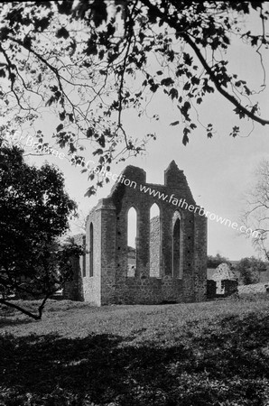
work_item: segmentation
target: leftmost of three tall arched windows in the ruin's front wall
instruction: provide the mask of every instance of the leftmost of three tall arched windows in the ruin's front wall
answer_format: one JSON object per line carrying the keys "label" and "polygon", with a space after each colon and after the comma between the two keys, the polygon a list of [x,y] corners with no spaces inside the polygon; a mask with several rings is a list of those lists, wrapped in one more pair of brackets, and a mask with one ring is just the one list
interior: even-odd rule
{"label": "leftmost of three tall arched windows in the ruin's front wall", "polygon": [[137,234],[137,214],[135,208],[128,211],[127,221],[127,248],[128,248],[128,269],[127,276],[135,276],[136,271],[136,234]]}

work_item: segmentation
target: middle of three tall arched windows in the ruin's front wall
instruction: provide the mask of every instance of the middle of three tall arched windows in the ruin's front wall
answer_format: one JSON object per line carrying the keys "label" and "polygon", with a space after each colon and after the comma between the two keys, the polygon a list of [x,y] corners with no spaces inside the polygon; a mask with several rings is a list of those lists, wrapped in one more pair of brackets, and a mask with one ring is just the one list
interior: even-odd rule
{"label": "middle of three tall arched windows in the ruin's front wall", "polygon": [[160,278],[161,265],[161,221],[160,208],[156,203],[150,211],[150,276]]}

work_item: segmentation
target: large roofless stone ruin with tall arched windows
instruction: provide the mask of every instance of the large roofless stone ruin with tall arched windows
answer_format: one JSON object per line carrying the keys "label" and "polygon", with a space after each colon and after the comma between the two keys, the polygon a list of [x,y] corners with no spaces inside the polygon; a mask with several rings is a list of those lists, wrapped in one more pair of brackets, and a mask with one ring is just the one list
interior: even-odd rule
{"label": "large roofless stone ruin with tall arched windows", "polygon": [[[160,215],[151,220],[153,205]],[[134,248],[127,244],[131,208],[137,216]],[[163,185],[146,183],[144,170],[127,166],[90,211],[86,237],[76,239],[85,239],[87,254],[74,261],[66,298],[97,306],[206,299],[207,217],[174,161]]]}

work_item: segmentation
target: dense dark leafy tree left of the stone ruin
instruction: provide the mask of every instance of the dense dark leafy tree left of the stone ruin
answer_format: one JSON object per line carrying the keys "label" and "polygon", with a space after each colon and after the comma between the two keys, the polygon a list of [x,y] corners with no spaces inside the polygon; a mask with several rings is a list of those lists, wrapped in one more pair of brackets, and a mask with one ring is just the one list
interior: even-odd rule
{"label": "dense dark leafy tree left of the stone ruin", "polygon": [[[46,300],[71,277],[70,257],[81,254],[71,241],[59,242],[75,213],[60,171],[30,166],[22,150],[0,145],[0,303],[42,318]],[[38,314],[9,301],[12,293],[42,297]]]}

